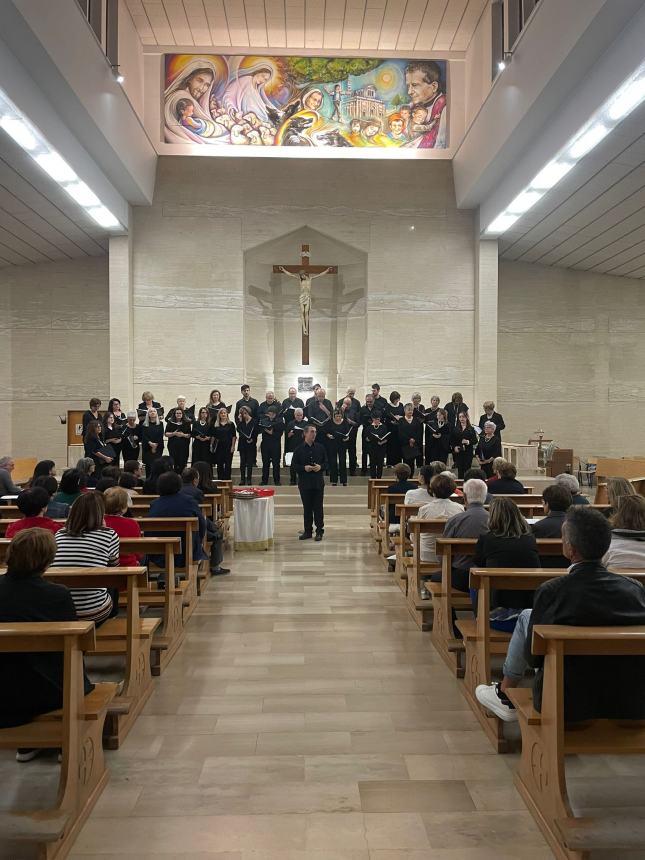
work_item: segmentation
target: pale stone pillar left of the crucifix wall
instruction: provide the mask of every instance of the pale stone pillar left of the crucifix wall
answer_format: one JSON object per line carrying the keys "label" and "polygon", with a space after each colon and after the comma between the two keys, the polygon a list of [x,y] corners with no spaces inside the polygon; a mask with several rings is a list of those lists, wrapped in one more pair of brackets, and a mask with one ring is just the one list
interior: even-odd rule
{"label": "pale stone pillar left of the crucifix wall", "polygon": [[138,403],[134,382],[134,320],[132,291],[132,235],[112,236],[109,249],[110,397],[124,409]]}

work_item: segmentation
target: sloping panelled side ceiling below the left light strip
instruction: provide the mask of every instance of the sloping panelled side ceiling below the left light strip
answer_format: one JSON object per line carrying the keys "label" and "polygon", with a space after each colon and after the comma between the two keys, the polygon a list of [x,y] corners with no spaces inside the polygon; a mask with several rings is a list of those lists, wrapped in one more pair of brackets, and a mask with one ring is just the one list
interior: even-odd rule
{"label": "sloping panelled side ceiling below the left light strip", "polygon": [[108,237],[0,131],[0,267],[107,253]]}

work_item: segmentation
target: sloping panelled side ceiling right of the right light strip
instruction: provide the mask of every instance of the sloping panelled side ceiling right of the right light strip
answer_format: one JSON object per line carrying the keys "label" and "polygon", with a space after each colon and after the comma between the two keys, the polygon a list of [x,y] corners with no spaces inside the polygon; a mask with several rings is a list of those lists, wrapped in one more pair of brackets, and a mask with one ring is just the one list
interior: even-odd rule
{"label": "sloping panelled side ceiling right of the right light strip", "polygon": [[500,239],[505,260],[645,278],[645,106]]}

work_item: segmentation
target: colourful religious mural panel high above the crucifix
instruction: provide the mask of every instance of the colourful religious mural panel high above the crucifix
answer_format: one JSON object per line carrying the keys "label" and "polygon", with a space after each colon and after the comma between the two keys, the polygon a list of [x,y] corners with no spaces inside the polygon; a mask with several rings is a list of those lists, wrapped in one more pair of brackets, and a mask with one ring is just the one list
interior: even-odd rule
{"label": "colourful religious mural panel high above the crucifix", "polygon": [[166,54],[166,143],[444,149],[446,62]]}

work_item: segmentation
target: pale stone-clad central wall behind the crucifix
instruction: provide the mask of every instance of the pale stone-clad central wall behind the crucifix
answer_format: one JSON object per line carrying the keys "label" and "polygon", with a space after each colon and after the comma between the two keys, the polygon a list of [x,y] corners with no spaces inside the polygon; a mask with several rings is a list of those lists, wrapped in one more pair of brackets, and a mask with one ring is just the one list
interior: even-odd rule
{"label": "pale stone-clad central wall behind the crucifix", "polygon": [[[162,157],[134,225],[135,391],[174,397],[207,376],[225,399],[242,378],[282,395],[310,375],[335,397],[374,374],[424,396],[473,390],[473,219],[448,162]],[[271,265],[297,263],[307,241],[339,273],[314,282],[303,368],[298,285]],[[191,346],[171,362],[176,324]]]}

